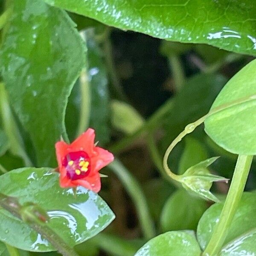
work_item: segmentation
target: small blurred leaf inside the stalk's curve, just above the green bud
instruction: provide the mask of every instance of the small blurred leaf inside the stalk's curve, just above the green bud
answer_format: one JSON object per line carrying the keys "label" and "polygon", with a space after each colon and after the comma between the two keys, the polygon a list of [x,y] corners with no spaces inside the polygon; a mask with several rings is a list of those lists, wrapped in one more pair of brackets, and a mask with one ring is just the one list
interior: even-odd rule
{"label": "small blurred leaf inside the stalk's curve, just above the green bud", "polygon": [[180,157],[178,174],[183,174],[189,167],[195,165],[208,157],[206,148],[193,137],[185,138],[186,145]]}

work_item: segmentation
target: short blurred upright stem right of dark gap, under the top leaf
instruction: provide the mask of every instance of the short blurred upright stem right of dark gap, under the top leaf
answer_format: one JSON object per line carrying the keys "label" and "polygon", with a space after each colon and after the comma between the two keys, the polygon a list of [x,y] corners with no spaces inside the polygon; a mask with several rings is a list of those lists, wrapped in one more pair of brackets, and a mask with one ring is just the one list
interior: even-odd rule
{"label": "short blurred upright stem right of dark gap, under the top leaf", "polygon": [[183,72],[180,57],[178,55],[171,55],[168,58],[175,83],[175,89],[177,92],[179,92],[183,87],[183,84],[185,83],[185,75]]}

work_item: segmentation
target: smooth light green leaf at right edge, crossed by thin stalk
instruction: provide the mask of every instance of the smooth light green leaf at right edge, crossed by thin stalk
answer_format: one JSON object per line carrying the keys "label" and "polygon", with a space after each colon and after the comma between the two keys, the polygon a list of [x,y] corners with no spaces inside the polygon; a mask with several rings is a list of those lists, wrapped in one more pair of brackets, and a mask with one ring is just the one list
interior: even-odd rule
{"label": "smooth light green leaf at right edge, crossed by thin stalk", "polygon": [[230,105],[205,120],[205,131],[222,148],[234,154],[256,154],[256,60],[241,69],[224,86],[212,109]]}

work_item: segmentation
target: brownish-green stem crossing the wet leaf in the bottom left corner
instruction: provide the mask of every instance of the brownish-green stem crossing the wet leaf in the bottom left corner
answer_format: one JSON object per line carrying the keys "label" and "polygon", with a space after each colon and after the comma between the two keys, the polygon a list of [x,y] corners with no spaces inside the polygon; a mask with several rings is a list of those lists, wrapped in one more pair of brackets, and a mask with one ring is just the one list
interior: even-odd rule
{"label": "brownish-green stem crossing the wet leaf in the bottom left corner", "polygon": [[[15,217],[22,219],[20,214],[22,206],[19,204],[17,198],[9,197],[0,193],[0,206]],[[46,224],[40,224],[40,221],[26,223],[29,224],[33,230],[44,236],[63,256],[78,256],[73,248],[69,247],[69,245],[66,244],[65,241],[63,241],[63,239]]]}

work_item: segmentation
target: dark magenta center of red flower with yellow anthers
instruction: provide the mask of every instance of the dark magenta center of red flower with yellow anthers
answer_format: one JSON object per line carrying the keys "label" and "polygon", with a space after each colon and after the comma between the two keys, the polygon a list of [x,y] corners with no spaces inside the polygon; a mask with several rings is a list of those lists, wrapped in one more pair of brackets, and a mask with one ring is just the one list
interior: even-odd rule
{"label": "dark magenta center of red flower with yellow anthers", "polygon": [[70,152],[64,158],[62,165],[71,180],[81,179],[90,173],[90,157],[84,151]]}

